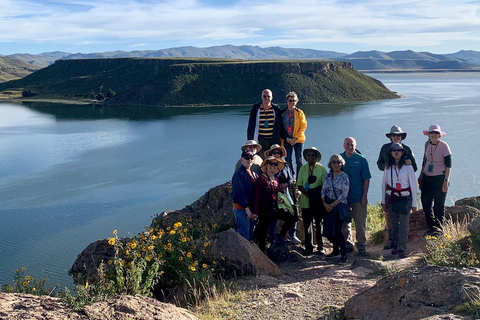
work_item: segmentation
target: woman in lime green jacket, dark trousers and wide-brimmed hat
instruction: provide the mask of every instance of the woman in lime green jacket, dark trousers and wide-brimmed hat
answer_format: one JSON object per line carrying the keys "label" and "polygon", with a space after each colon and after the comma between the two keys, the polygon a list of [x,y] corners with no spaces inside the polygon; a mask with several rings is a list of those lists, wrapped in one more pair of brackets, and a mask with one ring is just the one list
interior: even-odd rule
{"label": "woman in lime green jacket, dark trousers and wide-brimmed hat", "polygon": [[305,230],[305,251],[309,255],[313,252],[313,220],[315,220],[317,252],[324,255],[322,240],[322,220],[325,208],[321,201],[321,191],[327,170],[320,164],[322,154],[315,147],[303,150],[303,157],[307,164],[300,168],[297,186],[302,193],[300,206],[302,208],[303,226]]}

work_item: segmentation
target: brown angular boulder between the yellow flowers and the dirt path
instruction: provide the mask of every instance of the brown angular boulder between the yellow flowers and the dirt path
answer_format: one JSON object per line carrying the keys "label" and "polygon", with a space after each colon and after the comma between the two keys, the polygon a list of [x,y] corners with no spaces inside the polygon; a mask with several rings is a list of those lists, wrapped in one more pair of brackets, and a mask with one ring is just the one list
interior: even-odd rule
{"label": "brown angular boulder between the yellow flowers and the dirt path", "polygon": [[213,261],[221,262],[226,276],[278,276],[280,269],[255,245],[240,236],[233,229],[212,236],[212,245],[206,255]]}

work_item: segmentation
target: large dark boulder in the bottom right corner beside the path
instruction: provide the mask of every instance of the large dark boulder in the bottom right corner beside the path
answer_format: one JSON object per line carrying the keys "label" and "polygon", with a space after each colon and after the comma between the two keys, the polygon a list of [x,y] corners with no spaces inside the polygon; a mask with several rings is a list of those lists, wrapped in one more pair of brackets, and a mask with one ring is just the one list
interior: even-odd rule
{"label": "large dark boulder in the bottom right corner beside the path", "polygon": [[[427,266],[381,278],[345,304],[346,319],[417,320],[452,313],[480,290],[480,269]],[[455,319],[455,318],[447,318]],[[460,318],[461,319],[461,318]]]}

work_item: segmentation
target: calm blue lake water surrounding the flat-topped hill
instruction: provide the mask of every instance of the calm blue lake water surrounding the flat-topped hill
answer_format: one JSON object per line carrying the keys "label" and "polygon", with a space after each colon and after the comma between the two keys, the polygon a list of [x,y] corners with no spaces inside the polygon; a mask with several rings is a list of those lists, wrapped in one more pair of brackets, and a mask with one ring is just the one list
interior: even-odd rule
{"label": "calm blue lake water surrounding the flat-topped hill", "polygon": [[[480,152],[471,142],[480,73],[372,76],[404,98],[299,105],[308,118],[306,145],[322,151],[322,163],[343,151],[346,136],[356,137],[373,176],[369,201],[378,202],[375,162],[385,133],[400,125],[421,162],[422,130],[438,123],[453,152],[447,202],[480,195],[473,161]],[[89,243],[114,229],[136,235],[155,213],[182,208],[229,180],[249,109],[0,104],[0,283],[27,267],[69,286],[67,271]]]}

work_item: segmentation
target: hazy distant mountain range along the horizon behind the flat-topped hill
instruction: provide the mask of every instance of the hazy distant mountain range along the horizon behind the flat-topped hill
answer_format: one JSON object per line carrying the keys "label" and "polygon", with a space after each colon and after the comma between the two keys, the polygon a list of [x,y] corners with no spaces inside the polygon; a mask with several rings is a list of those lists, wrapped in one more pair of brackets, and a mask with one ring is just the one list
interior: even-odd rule
{"label": "hazy distant mountain range along the horizon behind the flat-topped hill", "polygon": [[[110,51],[97,53],[46,52],[41,54],[0,55],[0,81],[18,79],[47,67],[59,59],[102,59],[102,58],[226,58],[242,60],[340,60],[348,61],[363,72],[375,71],[421,71],[442,70],[480,71],[480,52],[462,50],[450,54],[406,51],[358,51],[352,54],[314,49],[297,49],[258,46],[215,46],[208,48],[179,47],[162,50]],[[21,71],[21,72],[19,72]]]}

